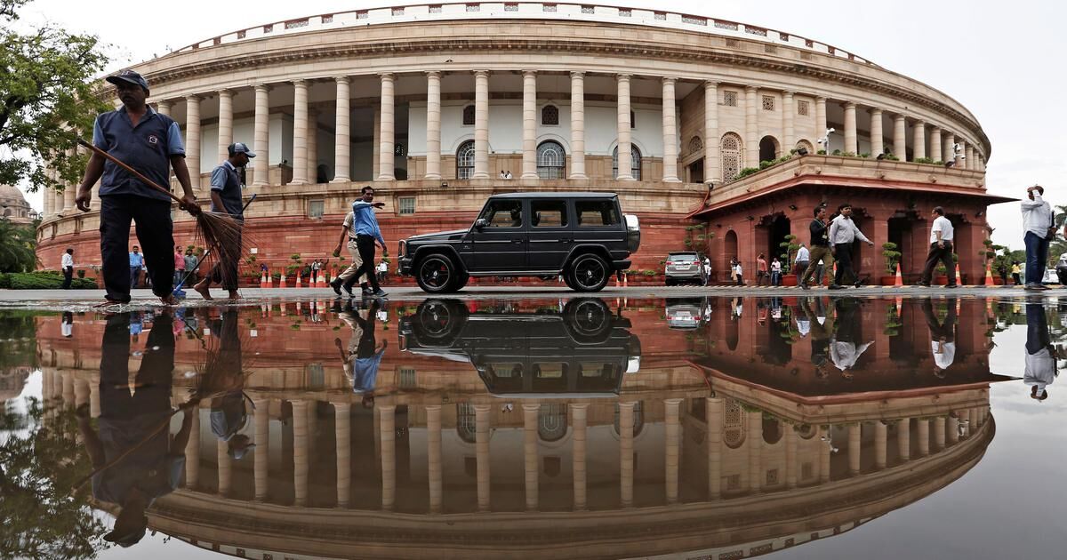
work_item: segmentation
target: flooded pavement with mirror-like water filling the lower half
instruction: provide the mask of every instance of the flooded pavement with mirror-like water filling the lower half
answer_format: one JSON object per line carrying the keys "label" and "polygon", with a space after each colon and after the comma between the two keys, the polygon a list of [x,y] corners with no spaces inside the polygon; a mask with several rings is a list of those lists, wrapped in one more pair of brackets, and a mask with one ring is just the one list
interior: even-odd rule
{"label": "flooded pavement with mirror-like water filling the lower half", "polygon": [[978,298],[0,310],[0,557],[1058,557],[1065,321]]}

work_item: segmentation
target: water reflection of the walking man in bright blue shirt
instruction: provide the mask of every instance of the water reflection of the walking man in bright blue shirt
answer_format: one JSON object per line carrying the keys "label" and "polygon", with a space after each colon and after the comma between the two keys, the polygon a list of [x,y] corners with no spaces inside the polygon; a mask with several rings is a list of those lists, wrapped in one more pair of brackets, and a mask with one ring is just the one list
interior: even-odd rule
{"label": "water reflection of the walking man in bright blue shirt", "polygon": [[341,347],[340,339],[335,338],[334,343],[340,351],[341,361],[345,364],[345,374],[352,380],[352,390],[363,394],[363,406],[369,409],[375,405],[375,385],[378,381],[378,367],[385,355],[385,340],[380,343],[375,339],[375,319],[378,314],[378,300],[370,301],[367,309],[355,310],[352,304],[345,306],[340,313],[341,321],[345,321],[352,329],[352,336],[348,340],[348,351]]}

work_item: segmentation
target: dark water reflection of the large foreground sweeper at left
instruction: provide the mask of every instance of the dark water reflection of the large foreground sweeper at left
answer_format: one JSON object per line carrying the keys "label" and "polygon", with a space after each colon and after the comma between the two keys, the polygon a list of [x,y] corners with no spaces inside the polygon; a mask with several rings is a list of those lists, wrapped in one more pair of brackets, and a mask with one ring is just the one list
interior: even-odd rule
{"label": "dark water reflection of the large foreground sweeper at left", "polygon": [[174,337],[168,314],[156,317],[131,390],[129,322],[128,315],[115,315],[103,331],[99,433],[90,425],[89,406],[78,410],[78,430],[99,469],[92,478],[93,497],[121,507],[114,529],[103,539],[120,546],[144,537],[145,509],[178,486],[196,405],[195,400],[182,405],[181,428],[171,436]]}

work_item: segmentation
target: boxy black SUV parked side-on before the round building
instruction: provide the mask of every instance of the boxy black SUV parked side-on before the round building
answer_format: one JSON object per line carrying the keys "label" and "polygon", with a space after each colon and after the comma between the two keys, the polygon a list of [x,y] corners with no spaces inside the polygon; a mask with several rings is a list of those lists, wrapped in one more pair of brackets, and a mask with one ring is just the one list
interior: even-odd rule
{"label": "boxy black SUV parked side-on before the round building", "polygon": [[641,243],[636,215],[615,193],[519,192],[490,196],[468,229],[400,241],[400,274],[430,293],[461,289],[471,276],[563,276],[598,291],[630,268]]}

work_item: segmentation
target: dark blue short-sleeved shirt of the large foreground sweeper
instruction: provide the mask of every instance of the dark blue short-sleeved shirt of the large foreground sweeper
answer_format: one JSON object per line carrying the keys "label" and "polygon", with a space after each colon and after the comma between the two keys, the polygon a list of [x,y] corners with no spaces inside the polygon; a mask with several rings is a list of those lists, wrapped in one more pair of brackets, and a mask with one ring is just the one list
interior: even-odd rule
{"label": "dark blue short-sleeved shirt of the large foreground sweeper", "polygon": [[[150,107],[137,126],[133,126],[125,107],[97,115],[93,125],[93,144],[166,189],[171,187],[171,156],[186,155],[178,124]],[[170,197],[126,170],[105,161],[99,195],[111,194],[133,194],[170,202]]]}

